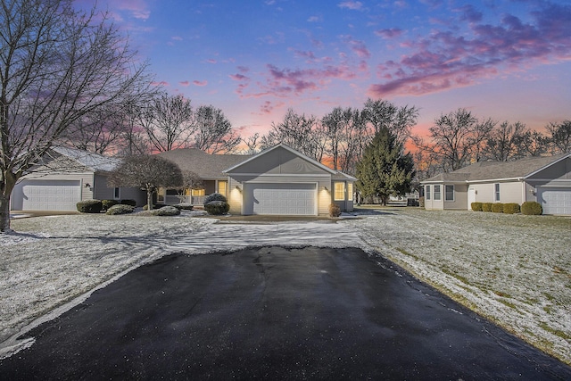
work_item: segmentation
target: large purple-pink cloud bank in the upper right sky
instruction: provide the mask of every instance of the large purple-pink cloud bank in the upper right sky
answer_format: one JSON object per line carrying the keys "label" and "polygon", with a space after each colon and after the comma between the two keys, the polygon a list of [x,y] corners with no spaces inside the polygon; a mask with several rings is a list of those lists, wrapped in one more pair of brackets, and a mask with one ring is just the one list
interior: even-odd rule
{"label": "large purple-pink cloud bank in the upper right sky", "polygon": [[399,62],[379,64],[377,77],[384,81],[369,87],[368,94],[429,94],[571,59],[571,5],[544,4],[526,22],[504,14],[496,25],[480,23],[482,14],[468,5],[458,10],[458,18],[468,21],[470,34],[434,30],[401,44],[410,53]]}

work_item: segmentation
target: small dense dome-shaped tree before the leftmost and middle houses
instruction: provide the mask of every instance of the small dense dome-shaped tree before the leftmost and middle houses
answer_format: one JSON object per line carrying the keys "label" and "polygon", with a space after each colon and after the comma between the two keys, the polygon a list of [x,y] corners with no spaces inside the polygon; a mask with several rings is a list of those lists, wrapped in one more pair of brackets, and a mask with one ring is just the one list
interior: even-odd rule
{"label": "small dense dome-shaped tree before the leftmost and middle houses", "polygon": [[149,211],[153,209],[153,194],[159,187],[177,189],[183,183],[178,165],[157,155],[129,156],[107,178],[109,186],[145,189]]}

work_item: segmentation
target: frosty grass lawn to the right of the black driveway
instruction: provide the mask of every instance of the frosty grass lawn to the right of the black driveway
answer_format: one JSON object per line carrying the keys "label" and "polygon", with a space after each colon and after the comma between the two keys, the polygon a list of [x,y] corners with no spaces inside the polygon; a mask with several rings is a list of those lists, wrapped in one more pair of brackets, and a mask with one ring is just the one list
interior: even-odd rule
{"label": "frosty grass lawn to the right of the black driveway", "polygon": [[420,279],[571,364],[571,219],[381,211],[344,223]]}

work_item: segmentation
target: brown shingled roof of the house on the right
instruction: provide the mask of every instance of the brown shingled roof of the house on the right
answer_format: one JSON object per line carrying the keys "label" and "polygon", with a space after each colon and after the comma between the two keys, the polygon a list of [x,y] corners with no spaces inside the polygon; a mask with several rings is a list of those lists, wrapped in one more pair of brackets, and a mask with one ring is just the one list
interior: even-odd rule
{"label": "brown shingled roof of the house on the right", "polygon": [[468,167],[428,178],[422,181],[422,183],[524,179],[568,157],[571,157],[571,153],[531,157],[515,162],[476,162],[472,165],[468,165]]}

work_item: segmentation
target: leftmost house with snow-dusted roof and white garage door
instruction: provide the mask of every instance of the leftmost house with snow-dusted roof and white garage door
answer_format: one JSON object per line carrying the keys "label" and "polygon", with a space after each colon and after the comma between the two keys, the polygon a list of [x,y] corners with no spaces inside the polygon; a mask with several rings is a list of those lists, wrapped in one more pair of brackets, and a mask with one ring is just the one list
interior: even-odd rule
{"label": "leftmost house with snow-dusted roof and white garage door", "polygon": [[86,151],[57,147],[23,176],[12,192],[12,211],[77,211],[88,199],[131,199],[145,203],[137,188],[109,187],[107,175],[119,160]]}

